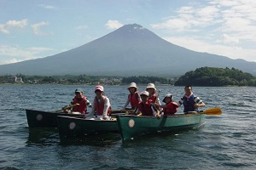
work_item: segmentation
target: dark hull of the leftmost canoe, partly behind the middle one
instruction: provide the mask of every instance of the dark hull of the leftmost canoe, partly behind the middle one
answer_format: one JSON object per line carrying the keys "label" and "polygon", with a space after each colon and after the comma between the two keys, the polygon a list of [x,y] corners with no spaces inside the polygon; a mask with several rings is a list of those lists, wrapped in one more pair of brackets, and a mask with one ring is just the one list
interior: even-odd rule
{"label": "dark hull of the leftmost canoe, partly behind the middle one", "polygon": [[57,116],[83,116],[50,111],[26,110],[28,127],[58,127]]}

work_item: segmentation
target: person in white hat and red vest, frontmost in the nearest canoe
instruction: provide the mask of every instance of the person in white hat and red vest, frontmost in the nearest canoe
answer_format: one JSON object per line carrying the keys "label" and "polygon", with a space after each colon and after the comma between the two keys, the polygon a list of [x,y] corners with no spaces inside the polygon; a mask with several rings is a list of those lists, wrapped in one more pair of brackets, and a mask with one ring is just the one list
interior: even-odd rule
{"label": "person in white hat and red vest, frontmost in the nearest canoe", "polygon": [[160,111],[155,107],[152,100],[149,99],[149,94],[147,91],[141,93],[142,101],[137,105],[134,113],[136,115],[142,116],[158,116],[160,117]]}

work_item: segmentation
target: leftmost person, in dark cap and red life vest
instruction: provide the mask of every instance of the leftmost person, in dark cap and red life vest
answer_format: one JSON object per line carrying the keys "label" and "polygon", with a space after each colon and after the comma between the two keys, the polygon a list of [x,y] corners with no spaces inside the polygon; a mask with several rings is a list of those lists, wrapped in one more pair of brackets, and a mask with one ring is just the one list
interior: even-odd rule
{"label": "leftmost person, in dark cap and red life vest", "polygon": [[75,90],[75,96],[71,102],[71,105],[74,105],[71,110],[64,109],[63,112],[72,114],[86,114],[87,106],[91,107],[89,99],[84,96],[84,92],[81,88]]}

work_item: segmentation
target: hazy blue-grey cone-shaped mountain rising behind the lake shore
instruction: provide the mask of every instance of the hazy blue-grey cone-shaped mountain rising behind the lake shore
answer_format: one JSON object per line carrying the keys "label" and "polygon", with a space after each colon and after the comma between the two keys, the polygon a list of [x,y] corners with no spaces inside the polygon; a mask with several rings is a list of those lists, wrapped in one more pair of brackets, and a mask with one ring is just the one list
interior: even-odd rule
{"label": "hazy blue-grey cone-shaped mountain rising behind the lake shore", "polygon": [[0,65],[1,74],[180,76],[202,66],[235,67],[254,73],[255,62],[179,47],[137,24],[43,59]]}

